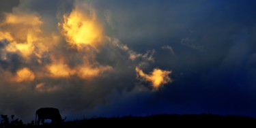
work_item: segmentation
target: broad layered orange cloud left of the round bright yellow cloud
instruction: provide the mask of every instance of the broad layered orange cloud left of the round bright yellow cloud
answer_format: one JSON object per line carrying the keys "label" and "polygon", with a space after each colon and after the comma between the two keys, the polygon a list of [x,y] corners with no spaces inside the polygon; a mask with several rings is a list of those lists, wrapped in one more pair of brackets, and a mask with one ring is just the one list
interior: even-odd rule
{"label": "broad layered orange cloud left of the round bright yellow cloud", "polygon": [[16,52],[27,60],[32,54],[40,58],[43,52],[59,42],[58,35],[42,31],[43,22],[38,14],[14,8],[12,13],[4,16],[0,23],[0,40],[9,42],[5,52]]}

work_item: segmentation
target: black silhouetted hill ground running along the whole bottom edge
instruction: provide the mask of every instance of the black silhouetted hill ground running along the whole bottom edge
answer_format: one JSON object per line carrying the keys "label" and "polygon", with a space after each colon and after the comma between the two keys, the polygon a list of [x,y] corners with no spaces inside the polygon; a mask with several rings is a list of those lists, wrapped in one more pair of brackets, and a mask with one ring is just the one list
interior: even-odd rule
{"label": "black silhouetted hill ground running along the whole bottom edge", "polygon": [[248,116],[220,116],[214,114],[158,114],[152,116],[124,116],[112,118],[87,118],[84,120],[67,121],[59,125],[45,124],[3,124],[1,127],[139,127],[139,126],[223,126],[223,125],[254,126],[256,119]]}

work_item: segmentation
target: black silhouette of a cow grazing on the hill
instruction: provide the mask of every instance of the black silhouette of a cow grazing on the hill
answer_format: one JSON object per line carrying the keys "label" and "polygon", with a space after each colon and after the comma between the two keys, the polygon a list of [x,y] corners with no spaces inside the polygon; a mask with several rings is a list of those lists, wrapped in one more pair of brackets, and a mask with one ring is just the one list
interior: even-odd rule
{"label": "black silhouette of a cow grazing on the hill", "polygon": [[[37,116],[38,122],[36,121]],[[66,117],[62,119],[57,108],[40,108],[35,112],[35,123],[39,125],[42,121],[42,124],[44,124],[44,119],[51,119],[52,123],[62,123]]]}

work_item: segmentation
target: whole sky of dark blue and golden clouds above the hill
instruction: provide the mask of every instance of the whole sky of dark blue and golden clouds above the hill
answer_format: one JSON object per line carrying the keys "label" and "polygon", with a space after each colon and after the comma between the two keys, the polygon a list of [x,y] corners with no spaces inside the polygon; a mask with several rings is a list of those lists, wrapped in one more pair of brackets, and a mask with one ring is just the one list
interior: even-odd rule
{"label": "whole sky of dark blue and golden clouds above the hill", "polygon": [[256,117],[255,1],[0,1],[0,114]]}

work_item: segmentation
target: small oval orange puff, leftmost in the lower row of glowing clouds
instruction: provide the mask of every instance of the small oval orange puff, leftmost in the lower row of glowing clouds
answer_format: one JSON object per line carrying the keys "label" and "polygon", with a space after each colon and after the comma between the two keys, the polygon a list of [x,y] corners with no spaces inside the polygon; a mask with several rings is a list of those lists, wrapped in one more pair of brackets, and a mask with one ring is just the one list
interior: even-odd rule
{"label": "small oval orange puff, leftmost in the lower row of glowing clouds", "polygon": [[29,68],[24,67],[16,72],[15,82],[32,81],[35,79],[35,74]]}

